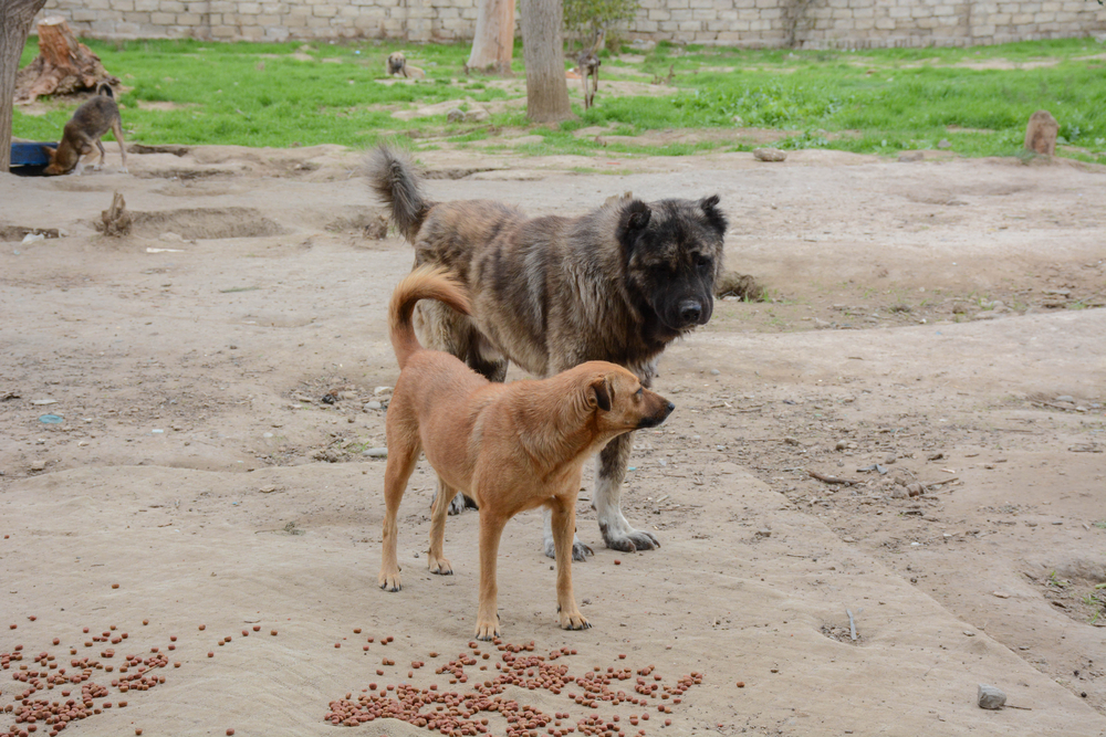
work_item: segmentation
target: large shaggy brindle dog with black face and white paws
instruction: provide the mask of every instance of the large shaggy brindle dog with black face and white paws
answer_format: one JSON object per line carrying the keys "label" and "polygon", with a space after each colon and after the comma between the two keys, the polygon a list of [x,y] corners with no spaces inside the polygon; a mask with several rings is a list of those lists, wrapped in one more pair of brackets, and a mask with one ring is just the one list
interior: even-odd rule
{"label": "large shaggy brindle dog with black face and white paws", "polygon": [[[424,344],[493,381],[507,377],[508,361],[546,377],[605,360],[649,387],[668,344],[710,319],[727,229],[717,196],[612,198],[578,218],[528,218],[498,201],[426,199],[410,161],[387,147],[371,156],[368,177],[415,246],[416,266],[445,269],[471,295],[471,315],[438,302],[419,305]],[[607,547],[627,552],[660,545],[622,512],[632,438],[619,435],[599,452],[592,495]],[[461,505],[458,495],[453,510]],[[544,541],[554,557],[549,514]],[[576,560],[591,552],[573,540]]]}

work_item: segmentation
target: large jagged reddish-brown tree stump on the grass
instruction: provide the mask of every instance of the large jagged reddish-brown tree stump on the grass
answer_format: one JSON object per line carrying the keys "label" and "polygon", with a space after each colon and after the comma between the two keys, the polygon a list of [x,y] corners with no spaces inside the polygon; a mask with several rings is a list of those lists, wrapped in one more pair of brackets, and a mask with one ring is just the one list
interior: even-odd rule
{"label": "large jagged reddish-brown tree stump on the grass", "polygon": [[77,41],[64,18],[54,15],[39,23],[39,55],[15,77],[15,104],[28,105],[40,95],[95,91],[103,82],[118,84],[119,80]]}

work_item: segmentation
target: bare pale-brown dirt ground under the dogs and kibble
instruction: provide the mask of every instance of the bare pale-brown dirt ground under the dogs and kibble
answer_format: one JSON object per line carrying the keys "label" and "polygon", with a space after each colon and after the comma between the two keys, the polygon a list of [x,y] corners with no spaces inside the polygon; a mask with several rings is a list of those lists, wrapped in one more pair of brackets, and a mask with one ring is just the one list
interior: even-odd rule
{"label": "bare pale-brown dirt ground under the dogs and kibble", "polygon": [[[427,575],[425,464],[400,513],[406,588],[376,587],[384,461],[364,451],[384,444],[385,305],[411,252],[373,236],[359,156],[145,150],[129,176],[113,144],[103,172],[0,175],[0,734],[66,698],[101,712],[79,735],[334,734],[328,715],[387,685],[492,683],[513,665],[469,656],[477,514],[447,524],[456,575]],[[635,438],[624,496],[662,547],[603,548],[582,493],[593,629],[556,627],[540,516],[509,525],[504,644],[580,678],[500,687],[533,734],[1106,734],[1100,170],[419,157],[434,198],[535,214],[717,192],[728,267],[769,295],[719,302],[664,357],[677,410]],[[115,191],[122,239],[94,229]],[[84,699],[82,674],[102,687]],[[593,707],[580,684],[604,675],[615,695]],[[979,683],[1018,708],[979,708]],[[509,713],[472,718],[502,735]]]}

